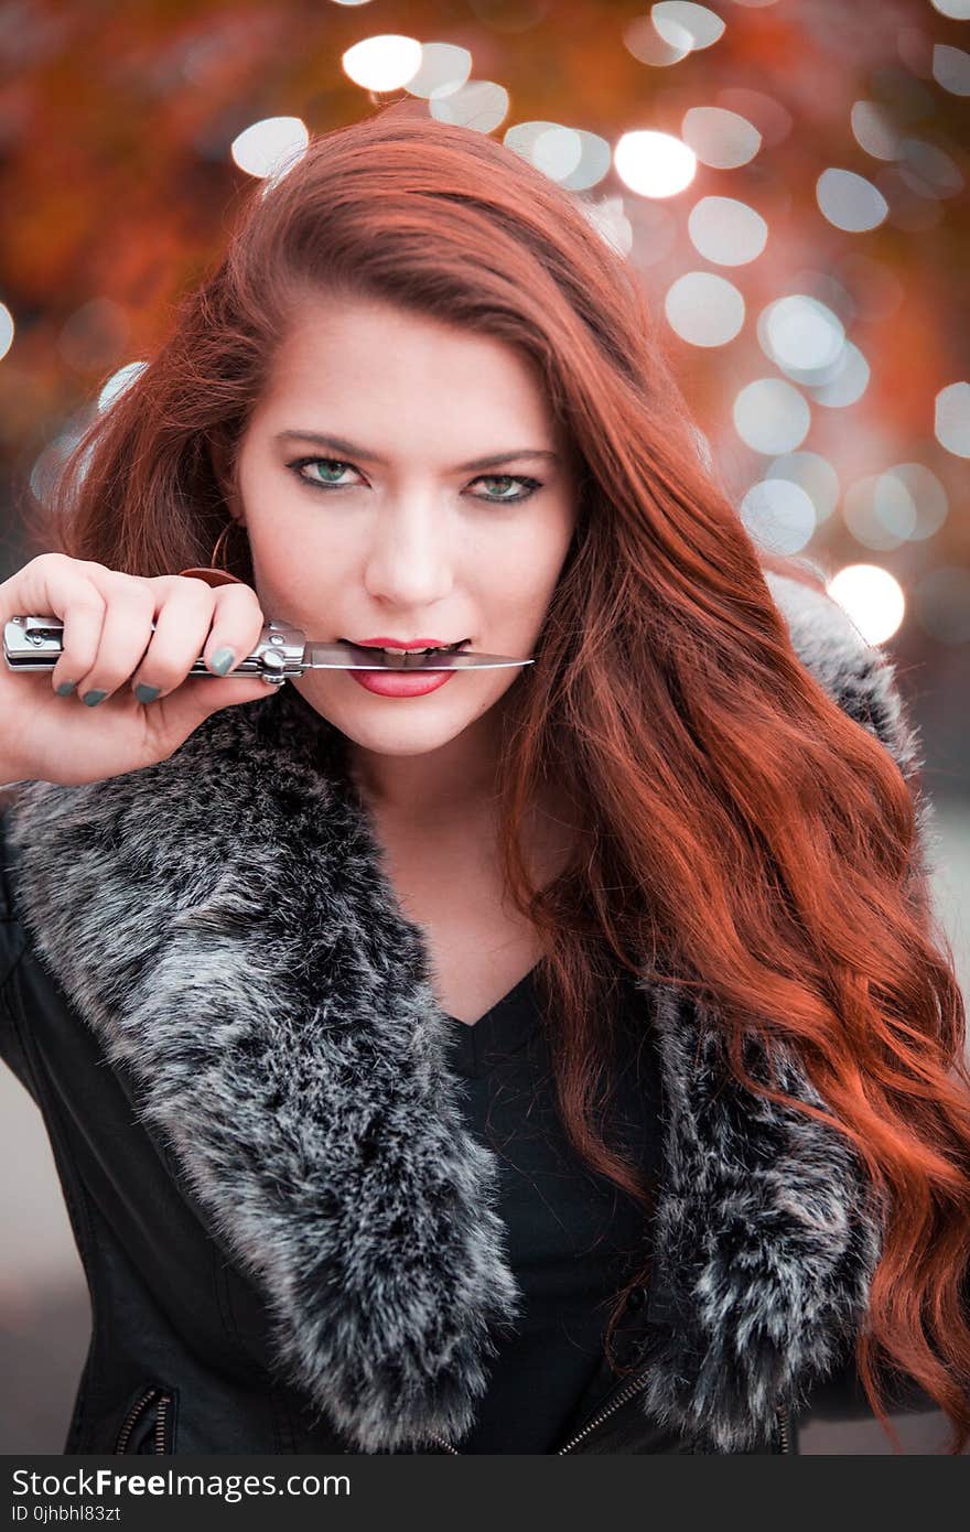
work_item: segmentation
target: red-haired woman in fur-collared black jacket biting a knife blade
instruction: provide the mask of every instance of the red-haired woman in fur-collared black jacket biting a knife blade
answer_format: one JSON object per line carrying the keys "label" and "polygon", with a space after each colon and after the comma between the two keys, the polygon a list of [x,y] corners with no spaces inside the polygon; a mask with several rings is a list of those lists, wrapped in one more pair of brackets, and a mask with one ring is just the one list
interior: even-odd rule
{"label": "red-haired woman in fur-collared black jacket biting a knife blade", "polygon": [[[92,1291],[66,1451],[792,1451],[846,1367],[965,1445],[915,734],[581,204],[397,109],[317,139],[40,542],[0,994]],[[533,663],[267,696],[268,617]]]}

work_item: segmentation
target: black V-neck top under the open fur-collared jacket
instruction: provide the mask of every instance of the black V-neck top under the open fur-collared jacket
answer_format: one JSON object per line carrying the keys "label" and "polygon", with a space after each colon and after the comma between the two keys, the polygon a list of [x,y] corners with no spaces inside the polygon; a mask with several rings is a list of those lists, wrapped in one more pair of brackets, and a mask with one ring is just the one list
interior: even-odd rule
{"label": "black V-neck top under the open fur-collared jacket", "polygon": [[[535,970],[533,970],[535,973]],[[498,1212],[523,1288],[516,1333],[460,1452],[555,1452],[602,1357],[616,1293],[648,1250],[648,1212],[576,1155],[559,1124],[533,973],[474,1025],[449,1017],[470,1131],[500,1160]],[[621,1082],[611,1143],[656,1178],[660,1085],[645,999],[622,979]],[[464,1097],[464,1091],[461,1092]]]}

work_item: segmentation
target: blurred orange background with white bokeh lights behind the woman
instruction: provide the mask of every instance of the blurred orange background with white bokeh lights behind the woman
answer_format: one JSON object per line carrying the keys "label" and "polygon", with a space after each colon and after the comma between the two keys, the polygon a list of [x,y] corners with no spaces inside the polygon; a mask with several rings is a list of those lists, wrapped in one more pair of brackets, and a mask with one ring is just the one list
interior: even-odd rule
{"label": "blurred orange background with white bokeh lights behind the woman", "polygon": [[[253,178],[408,98],[576,196],[636,268],[751,535],[811,558],[892,653],[965,994],[968,23],[970,0],[0,3],[0,579]],[[0,1160],[0,1451],[60,1452],[90,1316],[6,1069]],[[834,1403],[803,1451],[890,1448]]]}

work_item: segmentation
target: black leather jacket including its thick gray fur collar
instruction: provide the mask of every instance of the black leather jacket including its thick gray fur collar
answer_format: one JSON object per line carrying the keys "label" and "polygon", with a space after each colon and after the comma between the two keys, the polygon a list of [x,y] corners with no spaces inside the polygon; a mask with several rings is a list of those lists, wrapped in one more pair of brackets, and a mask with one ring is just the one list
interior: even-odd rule
{"label": "black leather jacket including its thick gray fur collar", "polygon": [[[806,666],[912,763],[886,657],[771,584]],[[146,771],[29,783],[3,832],[0,1051],[92,1298],[64,1449],[455,1451],[516,1284],[337,731],[287,686]],[[841,1135],[726,1079],[709,1011],[645,993],[670,1103],[654,1278],[625,1314],[634,1370],[604,1357],[558,1451],[798,1451],[821,1388],[866,1408],[864,1178]]]}

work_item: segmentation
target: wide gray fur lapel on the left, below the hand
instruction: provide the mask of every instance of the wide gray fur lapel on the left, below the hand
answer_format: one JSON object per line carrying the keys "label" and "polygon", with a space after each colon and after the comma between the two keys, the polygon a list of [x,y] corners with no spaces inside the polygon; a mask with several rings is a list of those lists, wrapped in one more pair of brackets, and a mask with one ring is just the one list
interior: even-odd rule
{"label": "wide gray fur lapel on the left, below the hand", "polygon": [[420,933],[296,703],[35,783],[11,840],[40,954],[259,1279],[283,1374],[375,1452],[470,1425],[519,1293]]}

